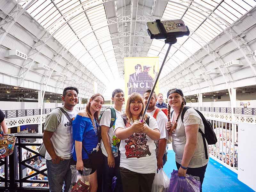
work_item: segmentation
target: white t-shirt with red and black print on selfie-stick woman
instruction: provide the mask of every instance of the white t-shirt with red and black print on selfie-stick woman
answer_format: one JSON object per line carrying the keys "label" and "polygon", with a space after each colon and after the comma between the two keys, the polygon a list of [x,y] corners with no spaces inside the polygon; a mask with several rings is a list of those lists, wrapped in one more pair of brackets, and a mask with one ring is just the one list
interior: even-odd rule
{"label": "white t-shirt with red and black print on selfie-stick woman", "polygon": [[[127,129],[121,116],[116,119],[114,134],[119,127]],[[154,117],[149,118],[149,127],[158,129]],[[119,151],[120,167],[137,173],[156,173],[156,144],[145,133],[133,133],[129,138],[121,140]]]}

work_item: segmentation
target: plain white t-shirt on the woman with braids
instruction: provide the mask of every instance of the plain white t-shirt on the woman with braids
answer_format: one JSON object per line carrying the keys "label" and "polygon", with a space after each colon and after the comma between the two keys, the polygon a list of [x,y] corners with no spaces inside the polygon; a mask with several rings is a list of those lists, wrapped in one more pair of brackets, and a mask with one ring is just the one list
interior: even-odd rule
{"label": "plain white t-shirt on the woman with braids", "polygon": [[[172,115],[171,122],[172,122],[173,116],[174,114]],[[204,132],[204,124],[203,124],[202,118],[195,111],[195,109],[189,108],[184,114],[183,123],[180,115],[177,123],[177,127],[174,133],[172,133],[172,148],[173,148],[173,151],[175,152],[175,160],[179,164],[181,164],[184,148],[186,144],[185,126],[193,125],[193,124],[199,124],[199,128]],[[207,141],[206,141],[206,147],[208,149]],[[208,150],[207,150],[207,153],[209,156]],[[196,150],[188,167],[190,168],[203,167],[208,163],[208,161],[209,159],[205,159],[204,142],[203,142],[202,135],[201,133],[198,132]]]}

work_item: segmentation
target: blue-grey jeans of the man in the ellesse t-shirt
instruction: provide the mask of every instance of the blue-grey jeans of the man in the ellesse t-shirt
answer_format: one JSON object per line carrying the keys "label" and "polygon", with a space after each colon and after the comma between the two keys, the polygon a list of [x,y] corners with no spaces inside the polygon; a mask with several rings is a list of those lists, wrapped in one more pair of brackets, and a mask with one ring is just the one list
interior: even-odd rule
{"label": "blue-grey jeans of the man in the ellesse t-shirt", "polygon": [[70,170],[71,159],[60,161],[59,164],[53,164],[52,160],[46,160],[50,192],[62,192],[63,183],[63,192],[68,192],[72,176]]}

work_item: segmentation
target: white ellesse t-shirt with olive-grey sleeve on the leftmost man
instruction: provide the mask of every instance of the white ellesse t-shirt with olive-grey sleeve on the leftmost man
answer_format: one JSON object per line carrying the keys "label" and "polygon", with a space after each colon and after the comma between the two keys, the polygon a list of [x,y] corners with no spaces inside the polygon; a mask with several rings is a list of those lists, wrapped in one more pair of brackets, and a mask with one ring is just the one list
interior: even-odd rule
{"label": "white ellesse t-shirt with olive-grey sleeve on the leftmost man", "polygon": [[[62,108],[68,113],[68,116],[73,120],[78,113],[74,108],[70,111],[64,106]],[[61,112],[60,108],[52,110],[46,117],[44,130],[53,132],[51,141],[55,153],[63,159],[70,159],[73,153],[74,140],[72,136],[72,126],[68,118]],[[52,157],[46,151],[45,159],[51,160]]]}

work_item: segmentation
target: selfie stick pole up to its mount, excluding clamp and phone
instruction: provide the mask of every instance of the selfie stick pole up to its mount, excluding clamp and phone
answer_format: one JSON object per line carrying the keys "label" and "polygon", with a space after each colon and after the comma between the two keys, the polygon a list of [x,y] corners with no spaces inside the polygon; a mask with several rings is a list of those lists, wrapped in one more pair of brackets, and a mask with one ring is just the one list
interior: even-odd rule
{"label": "selfie stick pole up to its mount, excluding clamp and phone", "polygon": [[176,39],[176,37],[173,37],[173,36],[167,37],[167,39],[165,39],[165,43],[166,43],[166,44],[169,44],[169,47],[168,47],[168,49],[167,49],[167,51],[166,51],[166,54],[165,54],[165,56],[164,56],[163,63],[162,63],[162,65],[161,65],[160,69],[159,69],[159,73],[158,73],[157,76],[156,76],[156,81],[155,81],[155,83],[154,83],[154,85],[153,85],[153,87],[152,87],[152,90],[151,90],[150,94],[149,94],[148,102],[147,102],[147,105],[146,105],[146,107],[145,107],[145,110],[144,110],[144,113],[143,113],[141,122],[143,122],[144,116],[146,115],[146,112],[147,112],[147,109],[148,109],[148,105],[149,105],[149,101],[151,100],[151,97],[152,97],[153,92],[154,92],[155,87],[156,87],[156,83],[157,83],[158,78],[159,78],[159,76],[160,76],[160,73],[161,73],[161,71],[162,71],[162,69],[163,69],[163,67],[164,67],[164,63],[165,63],[165,60],[166,60],[166,58],[167,58],[167,56],[168,56],[168,54],[169,54],[169,51],[170,51],[170,49],[171,49],[171,46],[172,46],[172,44],[175,44],[176,42],[177,42],[177,39]]}

